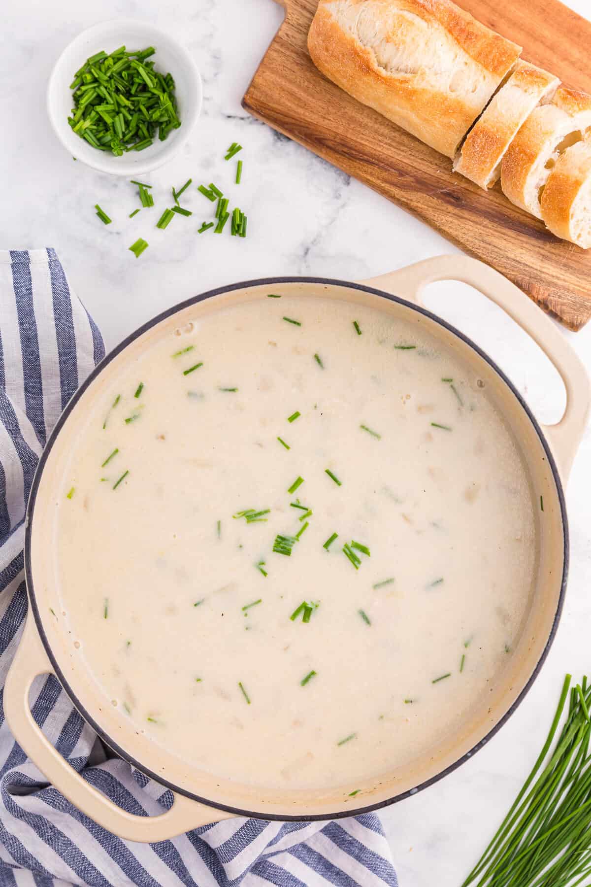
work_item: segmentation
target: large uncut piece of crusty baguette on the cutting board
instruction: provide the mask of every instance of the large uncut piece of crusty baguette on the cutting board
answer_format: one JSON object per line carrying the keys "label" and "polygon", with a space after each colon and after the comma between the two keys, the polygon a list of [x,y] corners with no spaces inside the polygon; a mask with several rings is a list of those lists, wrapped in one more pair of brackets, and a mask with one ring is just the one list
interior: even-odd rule
{"label": "large uncut piece of crusty baguette on the cutting board", "polygon": [[320,0],[307,46],[331,81],[447,157],[521,52],[451,0]]}

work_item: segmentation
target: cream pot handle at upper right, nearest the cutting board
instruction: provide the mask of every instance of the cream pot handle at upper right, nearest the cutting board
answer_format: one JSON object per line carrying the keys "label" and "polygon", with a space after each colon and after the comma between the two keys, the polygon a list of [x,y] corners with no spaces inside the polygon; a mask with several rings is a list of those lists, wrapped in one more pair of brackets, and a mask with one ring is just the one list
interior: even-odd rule
{"label": "cream pot handle at upper right, nearest the cutting board", "polygon": [[461,280],[478,289],[509,314],[556,366],[566,389],[566,408],[556,425],[545,425],[542,429],[548,437],[560,474],[566,480],[587,425],[591,401],[587,372],[579,357],[556,325],[525,293],[498,271],[468,255],[436,255],[399,271],[360,282],[423,305],[422,290],[436,280]]}

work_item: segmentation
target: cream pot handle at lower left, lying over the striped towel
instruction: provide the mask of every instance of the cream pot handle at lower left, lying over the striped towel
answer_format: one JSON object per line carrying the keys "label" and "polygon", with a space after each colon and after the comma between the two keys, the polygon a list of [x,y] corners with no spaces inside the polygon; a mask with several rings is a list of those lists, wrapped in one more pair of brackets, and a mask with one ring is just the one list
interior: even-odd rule
{"label": "cream pot handle at lower left, lying over the striped towel", "polygon": [[51,784],[91,820],[127,841],[152,843],[234,815],[176,793],[170,810],[157,816],[136,816],[113,804],[68,764],[35,724],[28,705],[28,692],[37,675],[48,673],[54,671],[29,612],[6,678],[4,714],[12,735],[28,757],[35,761]]}

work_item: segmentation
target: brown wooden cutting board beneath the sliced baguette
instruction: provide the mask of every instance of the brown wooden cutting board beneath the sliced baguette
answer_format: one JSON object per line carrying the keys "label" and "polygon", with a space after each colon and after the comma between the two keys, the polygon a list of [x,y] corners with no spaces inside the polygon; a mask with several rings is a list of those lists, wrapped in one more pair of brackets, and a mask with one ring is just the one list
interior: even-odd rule
{"label": "brown wooden cutting board beneath the sliced baguette", "polygon": [[[338,89],[307,53],[317,0],[280,2],[284,23],[245,94],[245,109],[501,271],[565,326],[584,326],[591,317],[591,249],[556,239],[509,203],[500,185],[481,191],[453,173],[447,157]],[[525,59],[591,92],[591,22],[557,0],[461,5],[523,46]]]}

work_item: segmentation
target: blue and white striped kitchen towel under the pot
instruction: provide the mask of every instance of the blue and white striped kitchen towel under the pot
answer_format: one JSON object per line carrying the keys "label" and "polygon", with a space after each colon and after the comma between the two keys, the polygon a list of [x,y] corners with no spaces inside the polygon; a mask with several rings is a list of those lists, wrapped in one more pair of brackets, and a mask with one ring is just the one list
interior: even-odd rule
{"label": "blue and white striped kitchen towel under the pot", "polygon": [[[105,355],[97,326],[52,249],[0,251],[0,695],[27,614],[25,506],[59,413]],[[134,813],[172,796],[97,739],[53,676],[31,706],[58,750],[97,789]],[[0,702],[0,887],[397,887],[373,813],[332,822],[235,819],[159,844],[121,841],[77,811],[14,742]]]}

